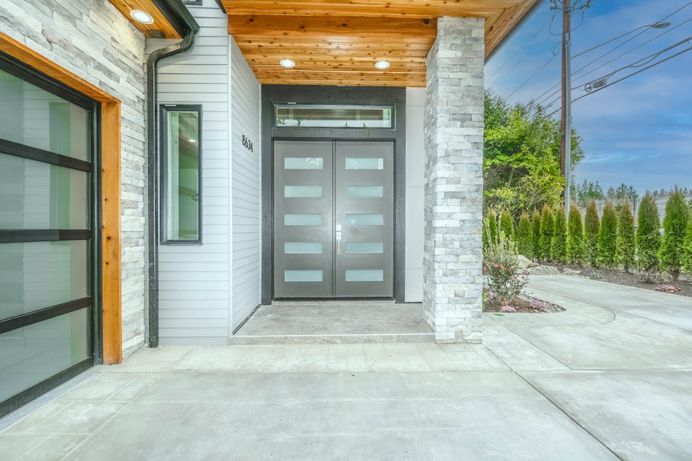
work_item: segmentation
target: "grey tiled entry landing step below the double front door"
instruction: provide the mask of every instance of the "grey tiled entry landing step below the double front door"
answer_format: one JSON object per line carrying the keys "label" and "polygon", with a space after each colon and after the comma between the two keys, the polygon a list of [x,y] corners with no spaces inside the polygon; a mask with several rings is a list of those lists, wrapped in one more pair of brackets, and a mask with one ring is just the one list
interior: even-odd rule
{"label": "grey tiled entry landing step below the double front door", "polygon": [[262,305],[230,345],[434,342],[420,303],[273,301]]}

